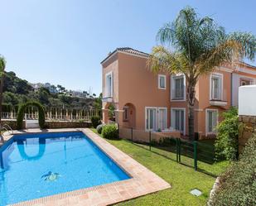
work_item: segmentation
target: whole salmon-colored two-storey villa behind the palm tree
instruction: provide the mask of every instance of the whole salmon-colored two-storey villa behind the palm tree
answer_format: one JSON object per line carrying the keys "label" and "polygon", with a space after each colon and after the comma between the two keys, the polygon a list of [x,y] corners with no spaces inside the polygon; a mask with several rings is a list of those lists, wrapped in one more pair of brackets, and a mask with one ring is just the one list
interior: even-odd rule
{"label": "whole salmon-colored two-storey villa behind the palm tree", "polygon": [[[188,134],[186,79],[183,74],[154,74],[148,54],[118,48],[102,62],[103,121],[109,122],[109,105],[115,108],[119,127],[144,131],[176,130]],[[238,106],[240,85],[256,84],[256,67],[239,62],[201,76],[196,85],[195,132],[213,137],[220,113]]]}

